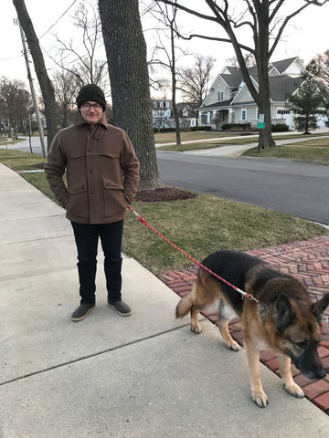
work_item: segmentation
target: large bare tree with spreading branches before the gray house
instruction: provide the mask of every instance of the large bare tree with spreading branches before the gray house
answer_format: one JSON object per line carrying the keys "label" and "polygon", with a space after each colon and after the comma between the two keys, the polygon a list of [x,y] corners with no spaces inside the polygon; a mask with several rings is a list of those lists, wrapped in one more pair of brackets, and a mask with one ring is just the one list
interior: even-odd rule
{"label": "large bare tree with spreading branches before the gray house", "polygon": [[[266,148],[274,144],[271,137],[271,98],[268,66],[275,48],[281,40],[282,33],[287,24],[294,16],[297,16],[309,5],[322,6],[329,0],[300,0],[298,5],[289,5],[284,0],[244,0],[244,10],[238,12],[237,3],[228,0],[215,1],[204,0],[206,13],[196,12],[186,7],[180,0],[155,0],[156,3],[175,5],[178,9],[188,14],[197,16],[210,23],[217,23],[224,31],[225,36],[213,37],[200,34],[182,36],[186,39],[201,37],[229,43],[233,46],[239,62],[239,68],[249,92],[258,105],[259,111],[265,116],[265,129],[261,130],[260,148]],[[201,2],[198,2],[201,4]],[[249,46],[246,36],[239,40],[239,30],[249,31],[252,44]],[[255,87],[249,76],[244,53],[252,54],[256,59],[258,72],[258,88]]]}

